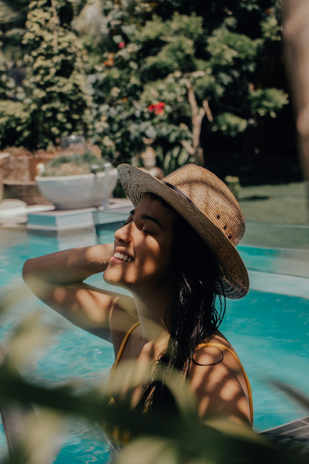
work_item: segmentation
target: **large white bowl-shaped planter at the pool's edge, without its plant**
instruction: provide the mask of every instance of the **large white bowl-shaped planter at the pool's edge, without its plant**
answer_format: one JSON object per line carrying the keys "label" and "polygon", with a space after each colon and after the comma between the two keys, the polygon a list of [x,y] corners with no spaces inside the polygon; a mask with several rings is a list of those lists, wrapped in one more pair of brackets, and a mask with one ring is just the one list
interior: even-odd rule
{"label": "large white bowl-shaped planter at the pool's edge, without its plant", "polygon": [[[41,193],[56,209],[100,206],[105,196],[105,179],[105,172],[35,178]],[[108,172],[109,198],[116,187],[117,179],[117,169],[111,168]]]}

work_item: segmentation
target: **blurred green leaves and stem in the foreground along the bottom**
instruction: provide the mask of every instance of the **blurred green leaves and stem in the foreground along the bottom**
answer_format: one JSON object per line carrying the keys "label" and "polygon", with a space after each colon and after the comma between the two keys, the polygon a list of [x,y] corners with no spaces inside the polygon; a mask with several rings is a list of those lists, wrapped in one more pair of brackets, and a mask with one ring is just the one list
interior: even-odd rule
{"label": "blurred green leaves and stem in the foreground along the bottom", "polygon": [[[15,293],[3,297],[3,307],[22,302],[22,295]],[[38,349],[48,339],[52,328],[39,321],[39,314],[27,316],[20,322],[7,340],[10,356],[4,357],[0,347],[0,408],[24,407],[20,417],[18,437],[13,437],[15,446],[11,446],[11,457],[6,464],[32,463],[38,455],[39,462],[46,462],[57,447],[54,439],[59,421],[63,415],[83,416],[90,421],[104,418],[111,426],[128,428],[137,438],[128,446],[118,459],[118,463],[151,464],[223,464],[260,462],[282,464],[301,464],[307,456],[292,448],[274,446],[262,436],[253,433],[247,426],[232,424],[222,419],[208,419],[203,423],[189,406],[189,391],[177,388],[177,373],[171,373],[167,379],[178,405],[178,413],[170,414],[165,410],[142,414],[126,407],[111,407],[104,403],[100,390],[82,383],[67,384],[64,387],[48,387],[22,380],[15,368],[22,368],[33,349]],[[120,385],[119,385],[120,387]],[[296,400],[309,408],[309,401],[287,387]],[[12,403],[13,402],[13,403]],[[38,422],[31,410],[25,405],[32,403],[43,408]],[[191,404],[191,403],[190,403]],[[16,409],[12,410],[16,414]],[[48,444],[48,446],[47,446]],[[12,445],[12,443],[11,443]],[[54,447],[54,448],[53,448]],[[36,459],[35,459],[36,457]]]}

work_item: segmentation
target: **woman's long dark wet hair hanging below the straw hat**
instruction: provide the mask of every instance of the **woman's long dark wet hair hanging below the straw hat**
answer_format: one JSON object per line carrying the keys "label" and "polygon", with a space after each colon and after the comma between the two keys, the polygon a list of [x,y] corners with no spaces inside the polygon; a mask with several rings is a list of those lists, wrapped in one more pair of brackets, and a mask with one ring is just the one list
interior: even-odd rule
{"label": "woman's long dark wet hair hanging below the straw hat", "polygon": [[[151,198],[172,209],[157,195],[151,194]],[[154,406],[176,407],[164,380],[176,368],[180,385],[182,384],[196,347],[218,329],[225,313],[221,270],[214,254],[179,214],[173,233],[173,285],[177,295],[173,305],[175,316],[171,326],[167,326],[170,330],[167,349],[156,361],[153,377],[140,403],[147,409]],[[218,294],[217,288],[222,289],[223,298]]]}

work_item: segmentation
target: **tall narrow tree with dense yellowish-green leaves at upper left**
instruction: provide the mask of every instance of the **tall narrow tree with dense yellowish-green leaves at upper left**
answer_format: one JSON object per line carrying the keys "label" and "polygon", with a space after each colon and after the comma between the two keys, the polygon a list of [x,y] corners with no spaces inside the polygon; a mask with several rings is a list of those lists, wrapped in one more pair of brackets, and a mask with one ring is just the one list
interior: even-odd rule
{"label": "tall narrow tree with dense yellowish-green leaves at upper left", "polygon": [[23,42],[31,48],[25,62],[34,147],[45,148],[71,133],[92,135],[87,56],[70,27],[72,19],[71,1],[38,0],[29,5]]}

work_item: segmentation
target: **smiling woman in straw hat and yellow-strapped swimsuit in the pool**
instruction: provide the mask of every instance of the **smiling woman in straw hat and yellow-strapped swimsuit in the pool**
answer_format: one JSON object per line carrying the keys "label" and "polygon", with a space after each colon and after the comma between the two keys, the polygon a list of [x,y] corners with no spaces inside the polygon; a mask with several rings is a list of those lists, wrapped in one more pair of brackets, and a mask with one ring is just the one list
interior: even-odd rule
{"label": "smiling woman in straw hat and yellow-strapped swimsuit in the pool", "polygon": [[[30,259],[25,282],[69,321],[113,343],[110,403],[142,411],[176,407],[167,387],[176,370],[179,387],[188,379],[201,419],[215,415],[250,425],[250,384],[218,330],[225,297],[241,298],[249,288],[235,249],[245,232],[237,200],[193,164],[162,181],[124,164],[118,173],[135,209],[114,244]],[[132,297],[83,283],[102,271],[108,284]],[[120,385],[116,393],[113,382]],[[129,441],[130,434],[102,426],[116,444]]]}

